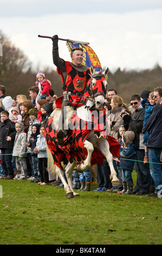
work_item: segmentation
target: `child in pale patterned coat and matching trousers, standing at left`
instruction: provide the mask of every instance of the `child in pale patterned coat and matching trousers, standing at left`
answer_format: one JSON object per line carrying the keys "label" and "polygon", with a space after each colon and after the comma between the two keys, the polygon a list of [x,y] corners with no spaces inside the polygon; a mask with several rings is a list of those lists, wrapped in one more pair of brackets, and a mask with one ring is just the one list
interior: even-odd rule
{"label": "child in pale patterned coat and matching trousers, standing at left", "polygon": [[27,133],[24,132],[24,125],[22,122],[16,122],[15,124],[16,136],[14,142],[14,149],[12,156],[16,157],[16,170],[17,174],[15,180],[27,179],[27,163],[26,163],[26,143]]}

